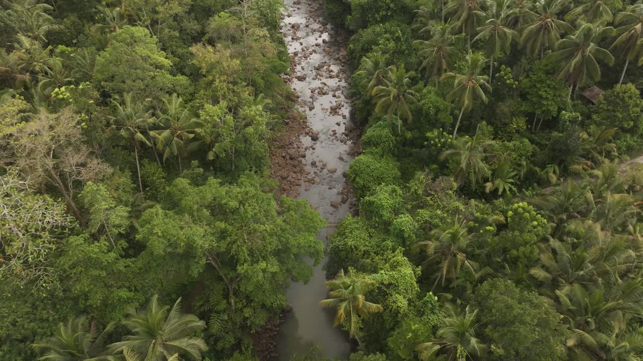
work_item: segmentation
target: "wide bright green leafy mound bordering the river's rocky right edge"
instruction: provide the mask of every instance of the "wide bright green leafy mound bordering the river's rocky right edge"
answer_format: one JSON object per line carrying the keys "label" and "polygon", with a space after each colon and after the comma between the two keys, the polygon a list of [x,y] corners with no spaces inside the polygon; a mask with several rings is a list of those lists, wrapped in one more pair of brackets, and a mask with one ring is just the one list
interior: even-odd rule
{"label": "wide bright green leafy mound bordering the river's rocky right edge", "polygon": [[365,197],[380,184],[399,184],[400,172],[392,157],[359,155],[349,166],[349,179],[358,197]]}

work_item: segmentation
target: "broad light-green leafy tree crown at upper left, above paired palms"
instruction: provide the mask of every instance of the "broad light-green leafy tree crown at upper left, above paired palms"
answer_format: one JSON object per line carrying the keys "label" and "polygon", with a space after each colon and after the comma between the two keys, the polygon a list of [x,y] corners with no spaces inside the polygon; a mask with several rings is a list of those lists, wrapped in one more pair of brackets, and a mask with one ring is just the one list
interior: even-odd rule
{"label": "broad light-green leafy tree crown at upper left, above paired palms", "polygon": [[172,62],[158,49],[149,30],[123,26],[96,58],[95,84],[111,94],[132,92],[139,99],[189,92],[185,76],[172,76]]}

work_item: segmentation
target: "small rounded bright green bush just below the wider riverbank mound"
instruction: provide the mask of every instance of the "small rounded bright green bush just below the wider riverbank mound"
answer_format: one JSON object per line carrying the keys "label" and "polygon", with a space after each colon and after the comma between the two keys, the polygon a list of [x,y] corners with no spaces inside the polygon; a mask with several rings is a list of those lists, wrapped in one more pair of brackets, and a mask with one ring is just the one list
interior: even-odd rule
{"label": "small rounded bright green bush just below the wider riverbank mound", "polygon": [[359,202],[361,215],[376,225],[390,224],[403,209],[402,190],[392,184],[377,186]]}

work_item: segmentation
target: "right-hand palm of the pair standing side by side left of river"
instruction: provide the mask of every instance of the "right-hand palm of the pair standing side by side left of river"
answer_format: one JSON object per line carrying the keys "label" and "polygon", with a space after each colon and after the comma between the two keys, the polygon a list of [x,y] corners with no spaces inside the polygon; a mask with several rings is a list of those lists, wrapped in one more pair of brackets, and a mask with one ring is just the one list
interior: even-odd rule
{"label": "right-hand palm of the pair standing side by side left of river", "polygon": [[158,116],[158,121],[164,129],[154,130],[152,134],[158,138],[159,150],[163,150],[163,162],[168,155],[174,155],[179,160],[179,172],[183,172],[181,157],[185,157],[188,141],[198,128],[203,127],[203,123],[185,107],[176,93],[164,97],[163,104],[165,112]]}

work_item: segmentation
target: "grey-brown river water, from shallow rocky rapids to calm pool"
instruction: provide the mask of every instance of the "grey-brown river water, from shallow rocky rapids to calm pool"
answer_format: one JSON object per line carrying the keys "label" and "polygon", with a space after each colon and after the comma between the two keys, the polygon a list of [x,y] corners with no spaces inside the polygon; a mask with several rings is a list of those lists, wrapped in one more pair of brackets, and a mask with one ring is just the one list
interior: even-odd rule
{"label": "grey-brown river water, from shallow rocky rapids to calm pool", "polygon": [[[318,235],[326,244],[327,235],[332,234],[336,224],[349,212],[350,202],[341,203],[341,189],[345,182],[343,173],[353,157],[349,155],[350,141],[342,135],[350,121],[347,71],[341,62],[345,52],[334,44],[334,30],[323,19],[321,3],[319,0],[285,0],[287,10],[282,32],[291,58],[296,62],[296,66],[291,67],[291,87],[299,95],[300,108],[310,127],[319,136],[316,141],[308,136],[300,139],[309,146],[303,159],[306,169],[319,182],[303,182],[299,198],[307,198],[329,222]],[[312,161],[316,162],[316,167],[311,166]],[[325,169],[320,169],[320,164],[325,164]],[[336,168],[336,172],[328,171],[332,168]],[[314,175],[314,172],[318,174]],[[338,208],[331,206],[333,201],[339,203]],[[314,268],[309,283],[296,282],[288,290],[288,303],[293,311],[285,313],[277,336],[278,361],[287,361],[295,353],[305,353],[313,345],[320,346],[325,357],[348,358],[347,333],[341,326],[333,327],[332,310],[318,305],[327,296],[322,269],[326,261],[325,258]]]}

